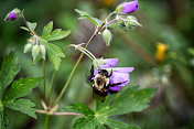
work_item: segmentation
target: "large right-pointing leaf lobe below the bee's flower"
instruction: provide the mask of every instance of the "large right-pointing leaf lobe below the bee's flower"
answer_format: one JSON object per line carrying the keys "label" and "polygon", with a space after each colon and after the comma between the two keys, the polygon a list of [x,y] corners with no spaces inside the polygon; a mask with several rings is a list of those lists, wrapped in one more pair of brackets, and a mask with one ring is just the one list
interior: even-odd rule
{"label": "large right-pointing leaf lobe below the bee's flower", "polygon": [[107,115],[122,115],[131,111],[141,111],[149,106],[150,99],[157,89],[146,88],[138,90],[138,86],[133,86],[125,90],[115,103],[109,106]]}

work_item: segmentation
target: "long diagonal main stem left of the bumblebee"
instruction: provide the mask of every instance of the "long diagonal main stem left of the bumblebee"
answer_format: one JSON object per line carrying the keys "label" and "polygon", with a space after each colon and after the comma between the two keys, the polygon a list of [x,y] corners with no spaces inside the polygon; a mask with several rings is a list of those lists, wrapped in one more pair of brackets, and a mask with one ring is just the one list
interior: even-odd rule
{"label": "long diagonal main stem left of the bumblebee", "polygon": [[[89,46],[90,42],[96,37],[96,35],[98,34],[98,32],[101,30],[101,28],[103,28],[104,25],[105,25],[105,22],[104,22],[104,23],[101,24],[101,26],[93,34],[93,36],[91,36],[91,37],[89,39],[89,41],[87,42],[85,49],[87,49],[87,47]],[[66,88],[68,87],[68,84],[71,83],[71,80],[72,80],[72,78],[73,78],[73,76],[74,76],[74,73],[75,73],[75,71],[77,69],[77,66],[79,65],[79,63],[80,63],[83,56],[84,56],[84,53],[80,54],[78,61],[76,62],[74,68],[72,69],[72,73],[71,73],[71,75],[68,76],[66,84],[64,85],[62,92],[60,93],[60,96],[58,96],[57,99],[56,99],[56,104],[58,104],[60,100],[62,99],[62,96],[63,96],[63,94],[65,93]]]}

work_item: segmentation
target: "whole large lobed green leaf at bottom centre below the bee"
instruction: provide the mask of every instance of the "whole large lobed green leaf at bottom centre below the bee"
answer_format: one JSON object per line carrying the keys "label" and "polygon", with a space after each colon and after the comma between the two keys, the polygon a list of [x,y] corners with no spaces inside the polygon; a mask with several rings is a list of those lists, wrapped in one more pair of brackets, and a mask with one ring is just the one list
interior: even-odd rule
{"label": "whole large lobed green leaf at bottom centre below the bee", "polygon": [[[148,107],[155,89],[147,88],[138,90],[138,86],[130,87],[118,97],[109,95],[104,103],[97,101],[96,112],[85,104],[74,104],[64,109],[78,114],[84,114],[74,123],[74,129],[140,129],[138,126],[125,123],[109,119],[114,115],[122,115],[131,111],[140,111]],[[114,99],[116,97],[116,99]]]}

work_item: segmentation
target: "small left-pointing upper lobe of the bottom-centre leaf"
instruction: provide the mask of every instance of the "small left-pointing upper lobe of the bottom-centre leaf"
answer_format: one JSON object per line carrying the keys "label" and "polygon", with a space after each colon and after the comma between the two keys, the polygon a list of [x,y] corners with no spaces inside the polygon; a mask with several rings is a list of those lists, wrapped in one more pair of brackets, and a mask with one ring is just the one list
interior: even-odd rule
{"label": "small left-pointing upper lobe of the bottom-centre leaf", "polygon": [[83,114],[85,116],[95,114],[89,107],[87,107],[85,104],[82,104],[82,103],[71,104],[64,109],[68,111],[77,112],[77,114]]}

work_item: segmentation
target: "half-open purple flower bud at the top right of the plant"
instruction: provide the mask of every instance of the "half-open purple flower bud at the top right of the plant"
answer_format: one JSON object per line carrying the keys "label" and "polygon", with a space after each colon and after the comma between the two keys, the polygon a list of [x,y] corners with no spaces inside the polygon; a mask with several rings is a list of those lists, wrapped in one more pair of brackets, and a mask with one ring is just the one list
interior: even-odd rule
{"label": "half-open purple flower bud at the top right of the plant", "polygon": [[129,14],[139,8],[138,0],[125,2],[117,7],[116,12],[120,14]]}

